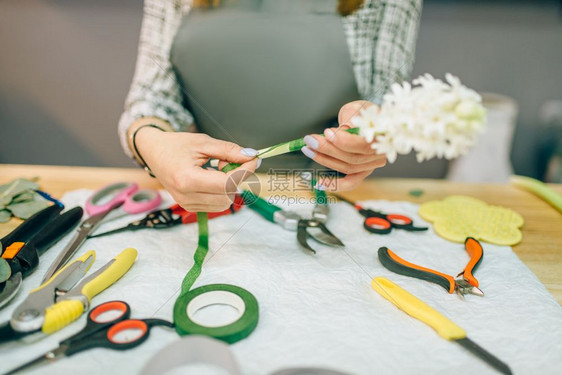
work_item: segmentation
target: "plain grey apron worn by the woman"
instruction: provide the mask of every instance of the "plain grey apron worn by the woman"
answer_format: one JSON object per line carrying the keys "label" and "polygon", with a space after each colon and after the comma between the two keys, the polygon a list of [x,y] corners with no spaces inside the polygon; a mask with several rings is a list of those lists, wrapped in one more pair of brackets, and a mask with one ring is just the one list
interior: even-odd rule
{"label": "plain grey apron worn by the woman", "polygon": [[[223,0],[193,9],[171,62],[198,129],[260,149],[335,126],[359,99],[335,0]],[[262,168],[310,168],[293,153]]]}

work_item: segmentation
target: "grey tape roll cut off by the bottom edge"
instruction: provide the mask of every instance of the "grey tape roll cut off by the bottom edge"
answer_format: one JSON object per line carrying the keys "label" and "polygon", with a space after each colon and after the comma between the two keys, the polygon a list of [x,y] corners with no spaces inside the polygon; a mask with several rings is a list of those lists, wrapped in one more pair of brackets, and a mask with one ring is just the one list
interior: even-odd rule
{"label": "grey tape roll cut off by the bottom edge", "polygon": [[228,345],[206,336],[186,336],[152,356],[140,375],[162,375],[190,364],[214,365],[229,375],[240,375],[238,364]]}

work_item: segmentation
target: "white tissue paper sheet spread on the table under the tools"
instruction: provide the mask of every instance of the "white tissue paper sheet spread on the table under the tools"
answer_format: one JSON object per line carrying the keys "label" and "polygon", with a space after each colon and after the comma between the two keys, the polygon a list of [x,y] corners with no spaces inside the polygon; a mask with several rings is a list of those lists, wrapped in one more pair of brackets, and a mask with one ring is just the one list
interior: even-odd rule
{"label": "white tissue paper sheet spread on the table under the tools", "polygon": [[[65,195],[66,207],[84,205],[91,194]],[[162,207],[173,202],[166,193]],[[365,207],[414,218],[418,206],[407,202],[369,201]],[[312,204],[290,210],[310,215]],[[97,231],[123,226],[144,214],[103,224]],[[230,346],[241,372],[262,375],[287,367],[324,367],[350,374],[484,374],[495,373],[479,358],[430,327],[398,310],[371,288],[385,276],[463,327],[468,337],[507,363],[516,374],[562,372],[562,308],[519,260],[511,248],[483,243],[484,259],[475,272],[485,297],[462,301],[442,287],[386,270],[377,250],[387,246],[420,265],[456,275],[469,259],[462,244],[427,232],[393,230],[375,235],[363,228],[364,218],[346,203],[331,206],[330,230],[345,249],[313,243],[302,250],[296,233],[270,223],[248,208],[209,221],[210,251],[194,287],[227,283],[243,287],[259,302],[260,320],[247,338]],[[97,252],[101,267],[126,247],[139,255],[116,284],[92,300],[92,306],[124,300],[133,318],[172,320],[181,281],[193,264],[197,224],[163,230],[145,229],[88,240],[79,250]],[[65,237],[41,258],[39,268],[24,280],[15,301],[0,311],[0,322],[38,286],[50,263],[70,241]],[[0,346],[0,372],[55,348],[85,325],[86,314],[61,331],[32,344]],[[177,340],[174,330],[155,327],[150,338],[132,350],[93,349],[46,364],[32,373],[135,374],[151,356]]]}

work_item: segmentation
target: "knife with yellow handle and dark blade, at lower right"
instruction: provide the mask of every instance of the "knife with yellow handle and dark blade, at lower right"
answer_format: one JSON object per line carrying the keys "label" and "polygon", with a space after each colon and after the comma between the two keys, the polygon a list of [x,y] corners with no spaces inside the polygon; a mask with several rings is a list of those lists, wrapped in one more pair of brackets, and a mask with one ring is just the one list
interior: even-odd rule
{"label": "knife with yellow handle and dark blade, at lower right", "polygon": [[511,374],[511,369],[505,363],[466,337],[464,329],[413,294],[410,294],[385,277],[375,277],[371,282],[371,286],[377,293],[392,302],[400,310],[436,330],[439,336],[459,343],[499,372]]}

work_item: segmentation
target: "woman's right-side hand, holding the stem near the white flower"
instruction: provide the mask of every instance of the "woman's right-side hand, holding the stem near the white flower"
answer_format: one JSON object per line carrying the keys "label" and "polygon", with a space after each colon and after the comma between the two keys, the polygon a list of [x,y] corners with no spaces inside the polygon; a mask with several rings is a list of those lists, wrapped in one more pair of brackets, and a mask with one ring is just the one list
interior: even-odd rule
{"label": "woman's right-side hand, holding the stem near the white flower", "polygon": [[324,137],[312,134],[304,138],[307,146],[303,154],[325,167],[345,173],[344,178],[320,179],[320,190],[352,190],[376,168],[386,164],[386,155],[377,154],[363,137],[344,131],[350,128],[351,118],[359,114],[361,108],[374,105],[364,100],[347,103],[338,114],[338,128],[324,131]]}

